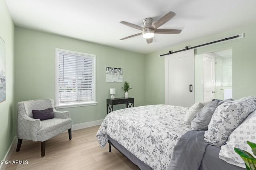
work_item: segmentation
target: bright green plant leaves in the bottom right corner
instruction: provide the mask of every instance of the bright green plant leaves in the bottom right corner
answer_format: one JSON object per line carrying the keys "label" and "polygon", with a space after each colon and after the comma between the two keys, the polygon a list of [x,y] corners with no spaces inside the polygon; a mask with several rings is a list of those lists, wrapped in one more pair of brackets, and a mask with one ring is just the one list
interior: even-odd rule
{"label": "bright green plant leaves in the bottom right corner", "polygon": [[[253,154],[256,156],[256,144],[247,141],[247,144],[251,147]],[[246,152],[245,150],[234,148],[236,153],[240,155],[242,160],[244,160],[245,166],[247,170],[255,170],[256,169],[256,158],[252,156],[249,152]]]}

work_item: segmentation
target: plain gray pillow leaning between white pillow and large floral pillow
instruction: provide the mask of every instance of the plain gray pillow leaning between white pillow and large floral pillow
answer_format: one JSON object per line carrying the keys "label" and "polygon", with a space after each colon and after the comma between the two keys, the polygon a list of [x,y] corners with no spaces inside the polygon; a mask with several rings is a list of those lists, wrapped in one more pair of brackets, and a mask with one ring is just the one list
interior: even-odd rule
{"label": "plain gray pillow leaning between white pillow and large floral pillow", "polygon": [[194,119],[191,121],[191,129],[198,131],[208,130],[208,125],[212,119],[212,114],[215,109],[220,105],[221,100],[214,100],[200,109]]}

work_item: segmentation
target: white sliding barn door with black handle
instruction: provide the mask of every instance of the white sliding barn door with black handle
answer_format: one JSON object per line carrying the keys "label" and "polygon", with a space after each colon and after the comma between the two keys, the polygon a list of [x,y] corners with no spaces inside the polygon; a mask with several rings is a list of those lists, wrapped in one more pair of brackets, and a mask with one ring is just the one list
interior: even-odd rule
{"label": "white sliding barn door with black handle", "polygon": [[165,104],[194,104],[194,49],[165,56]]}

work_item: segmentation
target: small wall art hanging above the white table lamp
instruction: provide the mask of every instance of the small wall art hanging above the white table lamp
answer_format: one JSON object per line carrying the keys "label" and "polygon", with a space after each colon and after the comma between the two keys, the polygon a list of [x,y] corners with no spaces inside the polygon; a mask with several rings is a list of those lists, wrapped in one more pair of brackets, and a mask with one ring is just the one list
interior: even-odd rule
{"label": "small wall art hanging above the white table lamp", "polygon": [[106,82],[123,82],[123,69],[106,67]]}

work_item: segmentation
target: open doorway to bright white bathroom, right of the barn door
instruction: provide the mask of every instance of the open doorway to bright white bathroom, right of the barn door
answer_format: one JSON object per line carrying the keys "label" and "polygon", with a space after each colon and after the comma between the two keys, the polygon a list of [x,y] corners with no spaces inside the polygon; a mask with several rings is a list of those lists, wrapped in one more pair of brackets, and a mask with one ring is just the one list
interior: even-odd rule
{"label": "open doorway to bright white bathroom, right of the barn door", "polygon": [[203,70],[204,101],[232,98],[232,49],[204,54]]}

